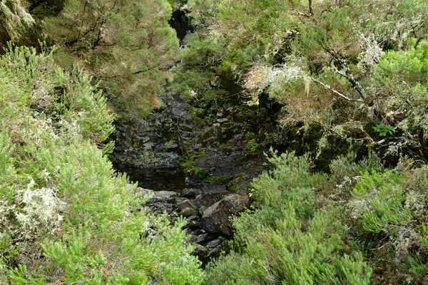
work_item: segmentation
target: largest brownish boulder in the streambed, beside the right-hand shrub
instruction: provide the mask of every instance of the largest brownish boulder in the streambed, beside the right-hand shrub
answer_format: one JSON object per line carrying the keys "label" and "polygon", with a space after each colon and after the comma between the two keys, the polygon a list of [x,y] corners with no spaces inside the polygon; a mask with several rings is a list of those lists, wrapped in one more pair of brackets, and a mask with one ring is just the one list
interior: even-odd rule
{"label": "largest brownish boulder in the streambed, beside the right-hand shrub", "polygon": [[250,199],[247,195],[229,195],[210,206],[202,216],[203,228],[212,234],[233,234],[229,217],[243,212]]}

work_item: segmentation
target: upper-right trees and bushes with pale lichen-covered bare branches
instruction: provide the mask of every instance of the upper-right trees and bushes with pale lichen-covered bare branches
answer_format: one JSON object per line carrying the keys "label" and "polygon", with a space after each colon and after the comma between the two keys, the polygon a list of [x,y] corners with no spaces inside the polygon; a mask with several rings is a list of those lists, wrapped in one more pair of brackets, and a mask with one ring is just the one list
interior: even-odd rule
{"label": "upper-right trees and bushes with pale lichen-covered bare branches", "polygon": [[426,1],[190,0],[187,9],[200,28],[185,39],[173,88],[198,100],[240,94],[315,137],[317,161],[339,141],[395,163],[428,159]]}

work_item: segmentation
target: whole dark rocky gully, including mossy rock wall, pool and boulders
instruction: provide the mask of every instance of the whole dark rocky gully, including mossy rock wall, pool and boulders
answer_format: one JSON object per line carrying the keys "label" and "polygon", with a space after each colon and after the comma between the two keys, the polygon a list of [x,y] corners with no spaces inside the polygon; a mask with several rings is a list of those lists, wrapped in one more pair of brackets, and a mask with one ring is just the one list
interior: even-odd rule
{"label": "whole dark rocky gully, including mossy rock wall, pool and boulders", "polygon": [[111,160],[138,183],[136,192],[152,195],[142,207],[166,212],[171,222],[185,219],[193,254],[205,264],[227,250],[230,217],[250,205],[248,187],[265,157],[247,150],[251,122],[233,105],[197,117],[178,94],[163,102],[147,118],[118,120]]}

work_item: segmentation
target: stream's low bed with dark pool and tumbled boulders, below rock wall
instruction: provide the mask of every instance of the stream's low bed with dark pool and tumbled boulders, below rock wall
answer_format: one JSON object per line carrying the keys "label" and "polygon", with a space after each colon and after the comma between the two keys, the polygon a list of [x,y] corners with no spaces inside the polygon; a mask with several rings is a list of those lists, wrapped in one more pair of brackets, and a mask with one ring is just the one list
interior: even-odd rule
{"label": "stream's low bed with dark pool and tumbled boulders, below rock wall", "polygon": [[[196,160],[195,165],[205,165],[213,171],[205,179],[190,177],[189,172],[173,168],[125,171],[131,181],[138,183],[134,191],[152,196],[143,207],[158,214],[166,213],[170,222],[178,217],[185,219],[190,243],[195,247],[193,254],[203,264],[228,250],[227,240],[233,237],[230,217],[250,205],[248,185],[263,168],[262,157],[243,163],[236,155],[235,152],[228,155],[212,152]],[[215,167],[216,163],[221,165]],[[223,178],[215,180],[213,177]]]}

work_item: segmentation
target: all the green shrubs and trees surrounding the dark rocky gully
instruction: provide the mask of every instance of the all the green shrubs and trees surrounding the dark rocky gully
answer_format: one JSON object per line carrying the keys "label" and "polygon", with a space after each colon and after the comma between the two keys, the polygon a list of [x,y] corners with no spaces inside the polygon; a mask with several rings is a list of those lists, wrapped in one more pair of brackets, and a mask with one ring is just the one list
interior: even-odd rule
{"label": "all the green shrubs and trees surrounding the dark rocky gully", "polygon": [[[427,21],[424,0],[1,1],[0,283],[428,284]],[[256,108],[251,152],[297,150],[205,271],[106,156],[113,113],[165,86],[195,117]]]}

